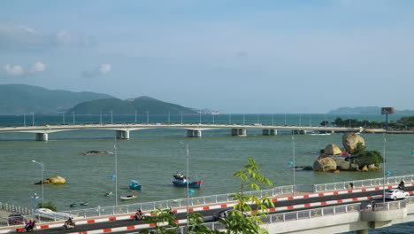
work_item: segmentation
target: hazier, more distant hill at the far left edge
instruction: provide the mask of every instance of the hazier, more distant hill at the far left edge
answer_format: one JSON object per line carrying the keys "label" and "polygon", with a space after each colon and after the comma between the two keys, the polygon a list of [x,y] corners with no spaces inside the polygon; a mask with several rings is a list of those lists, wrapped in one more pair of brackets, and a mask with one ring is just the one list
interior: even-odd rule
{"label": "hazier, more distant hill at the far left edge", "polygon": [[0,85],[0,114],[66,112],[84,101],[113,98],[94,92],[47,90],[26,84]]}

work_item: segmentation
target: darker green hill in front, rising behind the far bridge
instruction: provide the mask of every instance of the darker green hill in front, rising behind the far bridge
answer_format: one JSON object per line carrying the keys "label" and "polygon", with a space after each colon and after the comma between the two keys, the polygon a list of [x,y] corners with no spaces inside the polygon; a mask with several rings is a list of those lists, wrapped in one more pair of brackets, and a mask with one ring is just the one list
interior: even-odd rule
{"label": "darker green hill in front, rising behind the far bridge", "polygon": [[142,96],[140,98],[121,100],[118,98],[106,98],[100,100],[92,100],[80,103],[68,111],[68,113],[80,114],[99,114],[99,113],[114,113],[114,114],[144,114],[147,111],[150,114],[171,114],[177,113],[197,113],[196,110],[166,103],[155,98]]}

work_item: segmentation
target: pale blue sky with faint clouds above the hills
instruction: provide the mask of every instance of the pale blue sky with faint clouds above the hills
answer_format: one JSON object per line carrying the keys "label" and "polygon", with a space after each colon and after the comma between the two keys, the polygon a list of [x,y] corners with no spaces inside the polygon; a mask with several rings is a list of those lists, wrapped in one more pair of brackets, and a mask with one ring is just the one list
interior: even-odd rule
{"label": "pale blue sky with faint clouds above the hills", "polygon": [[0,1],[0,84],[221,113],[414,109],[414,1]]}

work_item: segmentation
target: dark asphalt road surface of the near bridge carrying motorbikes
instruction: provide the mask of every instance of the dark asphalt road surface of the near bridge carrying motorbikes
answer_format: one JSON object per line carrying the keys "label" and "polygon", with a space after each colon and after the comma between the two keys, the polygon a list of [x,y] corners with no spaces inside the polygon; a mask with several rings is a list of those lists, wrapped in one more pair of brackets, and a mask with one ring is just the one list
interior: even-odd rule
{"label": "dark asphalt road surface of the near bridge carrying motorbikes", "polygon": [[[414,191],[414,186],[406,187],[405,191]],[[274,205],[276,207],[276,211],[272,212],[271,214],[279,214],[279,213],[285,213],[285,212],[293,212],[297,210],[306,210],[306,209],[314,209],[318,207],[333,207],[333,206],[339,206],[339,205],[345,205],[350,203],[359,203],[362,202],[363,204],[369,203],[368,199],[367,201],[361,201],[357,200],[356,198],[368,198],[377,196],[380,197],[383,194],[382,190],[379,191],[361,191],[361,192],[353,192],[348,194],[341,194],[341,195],[331,195],[331,196],[321,196],[321,197],[314,197],[314,198],[308,198],[308,199],[289,199],[284,201],[277,201],[274,202]],[[326,205],[311,205],[310,207],[301,207],[301,208],[288,208],[293,207],[296,205],[303,205],[303,204],[316,204],[320,202],[327,202],[329,201],[337,201],[337,200],[345,200],[345,199],[356,199],[349,202],[343,202],[343,203],[334,203],[334,204],[326,204]],[[379,199],[382,200],[382,199]],[[363,205],[364,206],[364,205]],[[254,207],[253,207],[254,208]],[[204,210],[199,212],[200,214],[203,214],[205,217],[204,222],[213,222],[211,215],[217,212],[219,209],[216,210]],[[177,220],[184,220],[185,214],[175,214]],[[142,221],[134,221],[132,219],[129,220],[118,220],[118,221],[111,221],[111,222],[96,222],[96,223],[90,223],[88,225],[78,225],[74,230],[65,230],[65,228],[62,226],[61,228],[54,228],[54,229],[46,229],[46,230],[35,230],[33,233],[44,233],[44,234],[52,234],[52,233],[73,233],[73,232],[82,232],[82,231],[91,231],[91,230],[103,230],[103,229],[113,229],[118,227],[126,227],[126,226],[134,226],[138,224],[144,224],[145,222]],[[63,222],[62,222],[63,225]],[[134,233],[137,230],[126,230],[126,231],[120,231],[117,233]]]}

